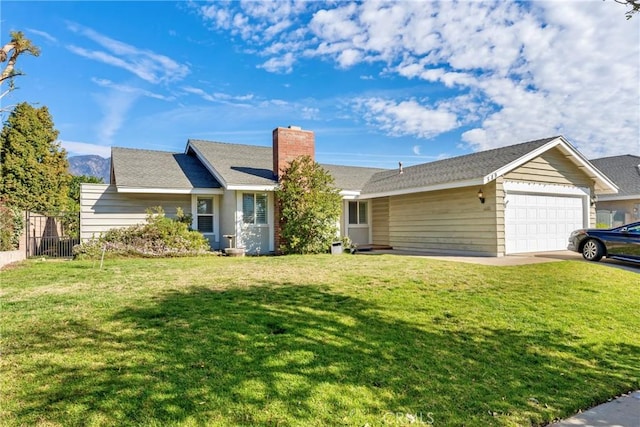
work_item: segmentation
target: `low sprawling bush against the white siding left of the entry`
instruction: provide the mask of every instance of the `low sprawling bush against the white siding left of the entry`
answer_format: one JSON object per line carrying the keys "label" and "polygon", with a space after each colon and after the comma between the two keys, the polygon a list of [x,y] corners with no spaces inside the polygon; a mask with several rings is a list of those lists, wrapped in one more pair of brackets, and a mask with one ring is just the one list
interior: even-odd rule
{"label": "low sprawling bush against the white siding left of the entry", "polygon": [[167,218],[162,207],[147,211],[145,224],[114,228],[102,236],[81,243],[73,249],[79,259],[109,256],[176,257],[201,255],[210,250],[209,242],[186,224],[186,215],[178,212],[176,219]]}

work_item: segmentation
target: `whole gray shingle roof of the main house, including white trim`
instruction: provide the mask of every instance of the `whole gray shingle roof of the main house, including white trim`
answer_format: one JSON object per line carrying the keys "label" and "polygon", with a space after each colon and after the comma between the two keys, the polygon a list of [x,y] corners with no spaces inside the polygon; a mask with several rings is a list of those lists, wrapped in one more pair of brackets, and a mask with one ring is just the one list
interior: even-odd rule
{"label": "whole gray shingle roof of the main house, including white trim", "polygon": [[[593,180],[598,193],[617,191],[607,176],[561,136],[410,166],[403,173],[398,169],[322,166],[332,174],[343,195],[373,198],[483,185],[554,148]],[[271,147],[190,139],[183,154],[125,148],[114,148],[112,153],[118,191],[272,191],[277,185]]]}

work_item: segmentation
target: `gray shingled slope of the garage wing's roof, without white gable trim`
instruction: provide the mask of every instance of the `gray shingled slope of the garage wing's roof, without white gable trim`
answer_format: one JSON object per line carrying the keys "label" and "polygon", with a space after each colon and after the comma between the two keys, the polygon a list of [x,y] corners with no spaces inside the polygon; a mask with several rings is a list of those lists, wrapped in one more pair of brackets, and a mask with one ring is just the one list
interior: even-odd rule
{"label": "gray shingled slope of the garage wing's roof, without white gable trim", "polygon": [[438,184],[480,179],[542,147],[557,137],[524,142],[503,148],[467,154],[375,174],[363,187],[362,194],[401,191]]}

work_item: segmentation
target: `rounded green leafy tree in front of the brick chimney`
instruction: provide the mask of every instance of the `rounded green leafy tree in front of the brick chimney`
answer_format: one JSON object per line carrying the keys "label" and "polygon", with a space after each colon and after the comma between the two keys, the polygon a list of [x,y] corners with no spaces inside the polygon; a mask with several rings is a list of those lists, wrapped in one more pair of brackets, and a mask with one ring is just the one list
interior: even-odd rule
{"label": "rounded green leafy tree in front of the brick chimney", "polygon": [[327,252],[338,234],[341,196],[329,172],[309,156],[292,161],[280,177],[280,251]]}

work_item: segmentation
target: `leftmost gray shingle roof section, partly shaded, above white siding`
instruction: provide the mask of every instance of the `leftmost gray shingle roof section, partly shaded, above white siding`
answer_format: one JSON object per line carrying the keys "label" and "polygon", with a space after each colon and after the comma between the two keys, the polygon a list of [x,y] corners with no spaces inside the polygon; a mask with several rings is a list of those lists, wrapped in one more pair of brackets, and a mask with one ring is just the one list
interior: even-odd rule
{"label": "leftmost gray shingle roof section, partly shaded, above white siding", "polygon": [[183,153],[113,147],[111,163],[118,186],[220,188],[198,159]]}

